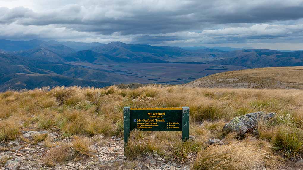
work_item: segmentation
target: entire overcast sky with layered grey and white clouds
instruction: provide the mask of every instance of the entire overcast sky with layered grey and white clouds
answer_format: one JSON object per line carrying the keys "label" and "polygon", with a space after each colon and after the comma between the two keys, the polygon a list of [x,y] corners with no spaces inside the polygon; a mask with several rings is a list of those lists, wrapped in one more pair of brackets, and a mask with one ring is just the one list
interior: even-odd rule
{"label": "entire overcast sky with layered grey and white clouds", "polygon": [[0,39],[303,49],[302,0],[0,0]]}

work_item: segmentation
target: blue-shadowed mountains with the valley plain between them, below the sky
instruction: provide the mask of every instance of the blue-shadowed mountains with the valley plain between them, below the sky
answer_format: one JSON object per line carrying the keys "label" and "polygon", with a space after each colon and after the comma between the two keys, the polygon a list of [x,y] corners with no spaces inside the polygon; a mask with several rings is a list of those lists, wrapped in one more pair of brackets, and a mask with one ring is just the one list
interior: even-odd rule
{"label": "blue-shadowed mountains with the valley plain between them, below the sky", "polygon": [[[54,40],[0,40],[0,91],[57,85],[104,87],[130,81],[148,83],[160,79],[165,79],[158,81],[164,84],[184,83],[196,79],[188,76],[188,80],[179,80],[174,78],[174,74],[163,77],[158,73],[149,74],[148,70],[140,71],[146,69],[146,66],[152,70],[159,69],[156,63],[161,64],[164,71],[169,72],[172,67],[176,67],[179,68],[178,74],[188,75],[190,75],[188,71],[182,72],[182,68],[194,64],[195,69],[201,68],[197,69],[196,76],[203,72],[205,74],[201,76],[207,76],[229,69],[303,66],[303,51],[281,52],[262,49],[226,51],[215,48],[158,47],[122,42],[103,44]],[[135,68],[132,67],[134,65]]]}

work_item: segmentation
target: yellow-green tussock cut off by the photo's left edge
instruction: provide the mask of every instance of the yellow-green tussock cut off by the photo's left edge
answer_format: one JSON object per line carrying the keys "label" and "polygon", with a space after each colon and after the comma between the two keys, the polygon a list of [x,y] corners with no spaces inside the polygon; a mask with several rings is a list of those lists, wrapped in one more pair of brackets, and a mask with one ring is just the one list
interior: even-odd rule
{"label": "yellow-green tussock cut off by the photo's left edge", "polygon": [[0,124],[0,141],[2,140],[16,140],[20,133],[20,128],[18,123],[14,120],[7,120]]}

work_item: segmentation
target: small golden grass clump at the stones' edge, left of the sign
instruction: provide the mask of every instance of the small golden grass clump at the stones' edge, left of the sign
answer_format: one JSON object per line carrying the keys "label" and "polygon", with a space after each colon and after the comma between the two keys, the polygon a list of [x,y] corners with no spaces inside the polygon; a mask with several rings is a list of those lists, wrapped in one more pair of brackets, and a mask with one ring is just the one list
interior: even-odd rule
{"label": "small golden grass clump at the stones' edge, left of the sign", "polygon": [[75,136],[75,140],[72,142],[72,148],[78,155],[92,156],[91,150],[89,149],[90,145],[91,141],[87,137]]}

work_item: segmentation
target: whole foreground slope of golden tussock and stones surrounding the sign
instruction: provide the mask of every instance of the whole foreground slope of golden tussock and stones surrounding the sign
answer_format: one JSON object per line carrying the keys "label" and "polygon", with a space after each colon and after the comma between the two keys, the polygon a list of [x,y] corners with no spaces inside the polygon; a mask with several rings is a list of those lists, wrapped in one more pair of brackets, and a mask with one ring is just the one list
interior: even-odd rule
{"label": "whole foreground slope of golden tussock and stones surrounding the sign", "polygon": [[[300,90],[160,85],[136,89],[111,86],[6,91],[0,94],[0,149],[4,155],[24,157],[22,166],[44,169],[84,165],[137,169],[146,155],[195,170],[291,169],[288,164],[303,154],[302,95]],[[123,138],[118,137],[123,134],[123,106],[189,106],[190,140],[181,143],[181,132],[134,131],[125,148],[128,158],[122,159]],[[244,137],[223,133],[229,120],[255,111],[277,115],[273,120],[258,121],[257,129]],[[47,130],[55,137],[36,135],[27,139],[21,131],[28,130]],[[226,144],[209,146],[208,140],[214,138]],[[7,145],[14,140],[25,149],[36,149],[35,152],[19,152]],[[7,160],[2,157],[0,166]]]}

